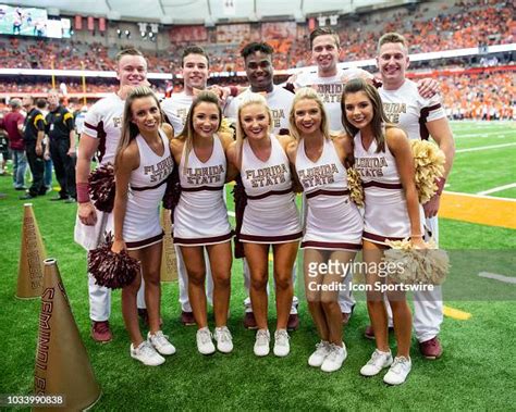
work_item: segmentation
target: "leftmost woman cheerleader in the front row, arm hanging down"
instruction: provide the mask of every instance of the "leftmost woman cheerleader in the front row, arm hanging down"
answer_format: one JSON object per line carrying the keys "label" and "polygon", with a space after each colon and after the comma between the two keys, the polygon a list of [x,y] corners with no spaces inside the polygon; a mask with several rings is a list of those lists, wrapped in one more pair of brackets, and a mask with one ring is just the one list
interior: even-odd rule
{"label": "leftmost woman cheerleader in the front row, arm hanging down", "polygon": [[[149,366],[164,362],[161,354],[175,348],[160,330],[160,263],[163,230],[159,222],[159,204],[172,173],[168,135],[161,124],[161,109],[148,87],[136,87],[125,101],[122,136],[115,157],[116,192],[113,207],[114,240],[112,251],[140,261],[142,274],[122,290],[122,314],[131,337],[131,357]],[[138,326],[136,295],[142,276],[149,317],[147,340]],[[158,353],[159,352],[159,353]],[[161,354],[160,354],[161,353]]]}

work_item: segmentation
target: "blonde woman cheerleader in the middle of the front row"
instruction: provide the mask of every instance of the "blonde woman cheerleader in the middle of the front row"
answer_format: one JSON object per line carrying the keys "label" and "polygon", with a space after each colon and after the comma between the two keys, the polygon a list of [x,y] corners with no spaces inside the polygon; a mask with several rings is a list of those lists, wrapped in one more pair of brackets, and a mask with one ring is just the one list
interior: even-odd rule
{"label": "blonde woman cheerleader in the middle of the front row", "polygon": [[286,325],[293,298],[292,267],[302,237],[285,154],[292,138],[271,134],[272,115],[260,95],[249,93],[243,99],[237,115],[236,141],[231,145],[228,159],[239,170],[247,197],[237,236],[244,244],[250,270],[249,295],[258,326],[254,351],[258,357],[270,351],[267,283],[269,248],[272,246],[278,313],[274,354],[286,357],[290,352]]}

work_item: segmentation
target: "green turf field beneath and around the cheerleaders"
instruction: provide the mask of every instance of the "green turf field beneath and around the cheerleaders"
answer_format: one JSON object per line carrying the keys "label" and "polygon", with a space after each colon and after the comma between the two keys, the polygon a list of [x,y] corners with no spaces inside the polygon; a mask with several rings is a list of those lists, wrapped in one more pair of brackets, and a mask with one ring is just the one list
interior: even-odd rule
{"label": "green turf field beneath and around the cheerleaders", "polygon": [[[516,129],[508,123],[454,123],[457,150],[516,142]],[[502,138],[501,135],[504,135]],[[481,136],[477,136],[481,135]],[[516,182],[516,145],[504,149],[458,152],[449,190],[477,193]],[[34,382],[38,300],[14,299],[20,254],[23,201],[0,177],[0,320],[4,354],[0,394],[28,395]],[[515,198],[513,190],[491,196]],[[56,193],[53,193],[56,195]],[[163,330],[171,336],[177,353],[160,367],[146,367],[128,355],[128,340],[120,313],[120,291],[113,294],[111,326],[114,339],[97,345],[89,338],[86,254],[73,242],[75,205],[50,202],[47,195],[33,201],[49,257],[58,260],[71,305],[91,361],[102,397],[95,410],[513,410],[516,346],[515,301],[445,301],[467,312],[459,321],[445,317],[441,339],[444,354],[438,361],[423,360],[413,344],[413,371],[405,385],[388,387],[380,374],[364,378],[358,371],[369,359],[373,342],[363,337],[368,324],[367,309],[359,301],[345,329],[348,358],[341,371],[324,374],[307,365],[318,341],[306,304],[300,304],[300,328],[291,334],[291,354],[278,359],[253,354],[254,333],[242,326],[242,264],[233,265],[230,329],[235,349],[229,355],[198,354],[195,327],[179,322],[177,285],[163,284]],[[232,202],[229,202],[230,209]],[[495,213],[496,211],[493,211]],[[516,230],[441,221],[441,245],[445,249],[516,249]],[[515,275],[515,265],[506,276]],[[472,276],[476,276],[472,273]],[[477,279],[481,288],[497,280]],[[298,286],[297,286],[298,287]],[[515,284],[505,284],[516,288]],[[297,289],[300,295],[302,291]],[[273,299],[273,297],[272,297]],[[273,330],[274,311],[270,312]],[[212,321],[210,321],[212,322]],[[212,323],[211,323],[212,325]],[[394,338],[392,337],[392,345]]]}

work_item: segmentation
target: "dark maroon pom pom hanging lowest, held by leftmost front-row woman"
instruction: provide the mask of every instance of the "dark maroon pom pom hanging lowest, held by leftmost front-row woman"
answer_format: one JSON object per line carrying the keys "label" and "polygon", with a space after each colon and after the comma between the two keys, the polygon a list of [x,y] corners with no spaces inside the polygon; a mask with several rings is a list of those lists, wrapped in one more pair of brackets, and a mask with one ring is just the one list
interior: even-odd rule
{"label": "dark maroon pom pom hanging lowest, held by leftmost front-row woman", "polygon": [[108,234],[106,241],[88,253],[88,272],[97,285],[110,289],[121,289],[131,285],[140,271],[139,261],[131,258],[126,250],[111,251],[113,236]]}

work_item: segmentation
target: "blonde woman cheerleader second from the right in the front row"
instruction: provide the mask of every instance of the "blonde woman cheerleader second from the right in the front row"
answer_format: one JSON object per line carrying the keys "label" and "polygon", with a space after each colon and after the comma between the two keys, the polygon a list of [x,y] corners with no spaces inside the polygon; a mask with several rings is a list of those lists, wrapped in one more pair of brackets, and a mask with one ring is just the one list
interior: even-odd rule
{"label": "blonde woman cheerleader second from the right in the front row", "polygon": [[[342,340],[339,290],[349,285],[344,282],[346,275],[351,276],[346,267],[361,249],[364,224],[357,207],[349,200],[344,138],[330,139],[323,103],[312,88],[296,91],[290,122],[296,141],[288,146],[287,154],[295,164],[307,204],[302,241],[305,292],[321,338],[308,364],[334,372],[347,355]],[[319,272],[321,265],[331,262],[339,263],[337,271]]]}

